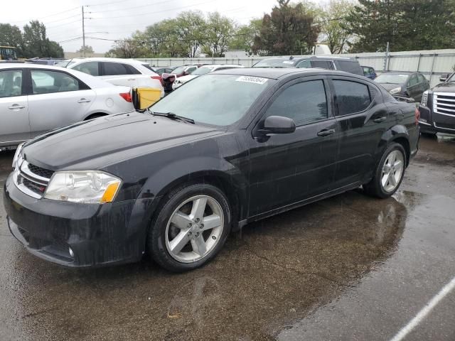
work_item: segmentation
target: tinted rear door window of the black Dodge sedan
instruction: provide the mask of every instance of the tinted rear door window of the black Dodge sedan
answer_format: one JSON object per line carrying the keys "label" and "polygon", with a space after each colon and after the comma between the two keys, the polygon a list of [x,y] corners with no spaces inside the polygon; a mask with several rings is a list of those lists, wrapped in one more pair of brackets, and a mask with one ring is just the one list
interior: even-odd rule
{"label": "tinted rear door window of the black Dodge sedan", "polygon": [[363,112],[371,103],[368,86],[350,80],[333,80],[338,116]]}

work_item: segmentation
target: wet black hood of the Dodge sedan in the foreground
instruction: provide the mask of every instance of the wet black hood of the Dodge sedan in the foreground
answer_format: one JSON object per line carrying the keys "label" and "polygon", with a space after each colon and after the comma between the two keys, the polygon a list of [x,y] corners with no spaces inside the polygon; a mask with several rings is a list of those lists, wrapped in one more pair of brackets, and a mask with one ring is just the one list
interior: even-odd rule
{"label": "wet black hood of the Dodge sedan in the foreground", "polygon": [[28,162],[53,171],[92,170],[222,132],[131,112],[49,131],[27,142],[22,153]]}

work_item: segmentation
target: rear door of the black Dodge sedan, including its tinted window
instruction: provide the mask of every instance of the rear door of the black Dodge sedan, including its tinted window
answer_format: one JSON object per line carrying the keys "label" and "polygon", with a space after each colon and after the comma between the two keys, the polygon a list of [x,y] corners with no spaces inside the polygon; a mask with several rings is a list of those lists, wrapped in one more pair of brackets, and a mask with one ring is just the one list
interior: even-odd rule
{"label": "rear door of the black Dodge sedan, including its tinted window", "polygon": [[336,187],[361,183],[373,169],[375,151],[390,118],[378,87],[353,77],[331,76],[339,126]]}

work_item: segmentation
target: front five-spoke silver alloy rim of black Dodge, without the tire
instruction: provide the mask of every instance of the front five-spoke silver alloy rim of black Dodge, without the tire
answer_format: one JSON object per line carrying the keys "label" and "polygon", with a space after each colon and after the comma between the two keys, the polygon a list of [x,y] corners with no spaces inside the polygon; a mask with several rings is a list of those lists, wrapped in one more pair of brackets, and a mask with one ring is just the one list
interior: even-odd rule
{"label": "front five-spoke silver alloy rim of black Dodge, without the tire", "polygon": [[191,263],[210,254],[223,233],[221,205],[208,195],[196,195],[178,205],[166,225],[166,249],[173,259]]}

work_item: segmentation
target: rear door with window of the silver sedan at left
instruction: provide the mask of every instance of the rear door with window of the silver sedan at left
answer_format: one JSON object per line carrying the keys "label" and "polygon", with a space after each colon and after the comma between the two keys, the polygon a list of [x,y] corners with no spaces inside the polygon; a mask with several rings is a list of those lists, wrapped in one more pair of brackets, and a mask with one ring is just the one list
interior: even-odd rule
{"label": "rear door with window of the silver sedan at left", "polygon": [[29,70],[32,91],[28,95],[31,136],[84,119],[96,93],[67,72]]}

